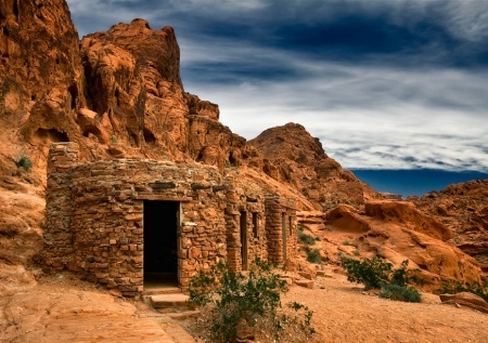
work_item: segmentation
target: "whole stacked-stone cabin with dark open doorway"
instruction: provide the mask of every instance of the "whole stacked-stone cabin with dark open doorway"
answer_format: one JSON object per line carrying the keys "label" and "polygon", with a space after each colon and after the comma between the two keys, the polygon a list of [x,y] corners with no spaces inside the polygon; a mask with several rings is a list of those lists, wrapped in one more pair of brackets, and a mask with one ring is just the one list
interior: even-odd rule
{"label": "whole stacked-stone cabin with dark open doorway", "polygon": [[290,199],[214,167],[147,159],[78,163],[76,143],[49,153],[44,260],[134,296],[151,285],[185,288],[219,261],[246,271],[256,258],[296,255]]}

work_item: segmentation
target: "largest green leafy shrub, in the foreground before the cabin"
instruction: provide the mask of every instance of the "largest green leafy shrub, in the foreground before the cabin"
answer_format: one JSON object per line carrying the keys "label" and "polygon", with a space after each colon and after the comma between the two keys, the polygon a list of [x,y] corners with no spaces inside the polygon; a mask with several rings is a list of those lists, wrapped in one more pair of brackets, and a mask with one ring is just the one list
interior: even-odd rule
{"label": "largest green leafy shrub, in the foreground before the cabin", "polygon": [[[290,316],[281,306],[280,294],[287,291],[286,282],[272,272],[272,265],[256,259],[247,275],[229,272],[219,263],[208,272],[200,271],[190,281],[190,302],[209,309],[208,330],[213,342],[234,342],[236,326],[244,319],[253,327],[268,324],[267,333],[279,339],[288,326],[300,327],[308,337],[311,312],[303,305],[292,305],[301,311],[304,319]],[[271,330],[271,331],[270,331]]]}

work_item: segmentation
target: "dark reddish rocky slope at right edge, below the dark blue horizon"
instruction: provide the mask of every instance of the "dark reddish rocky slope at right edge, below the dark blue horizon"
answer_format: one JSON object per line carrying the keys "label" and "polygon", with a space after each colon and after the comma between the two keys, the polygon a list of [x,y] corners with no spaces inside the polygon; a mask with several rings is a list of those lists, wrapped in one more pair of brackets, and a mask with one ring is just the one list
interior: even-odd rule
{"label": "dark reddish rocky slope at right edge, below the dark blue horizon", "polygon": [[488,180],[449,185],[415,205],[449,227],[450,242],[474,256],[488,275]]}

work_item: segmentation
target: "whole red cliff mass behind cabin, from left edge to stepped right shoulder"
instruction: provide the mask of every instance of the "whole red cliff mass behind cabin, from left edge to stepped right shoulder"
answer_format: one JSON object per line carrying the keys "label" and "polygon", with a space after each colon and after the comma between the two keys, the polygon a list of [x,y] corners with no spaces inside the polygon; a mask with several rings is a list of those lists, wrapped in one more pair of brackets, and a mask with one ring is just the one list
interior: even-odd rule
{"label": "whole red cliff mass behind cabin, from left edge to stepped right shoulder", "polygon": [[216,104],[184,92],[171,27],[134,19],[79,42],[63,0],[0,5],[0,155],[25,153],[44,180],[53,142],[82,160],[149,157],[243,164],[256,151],[219,122]]}

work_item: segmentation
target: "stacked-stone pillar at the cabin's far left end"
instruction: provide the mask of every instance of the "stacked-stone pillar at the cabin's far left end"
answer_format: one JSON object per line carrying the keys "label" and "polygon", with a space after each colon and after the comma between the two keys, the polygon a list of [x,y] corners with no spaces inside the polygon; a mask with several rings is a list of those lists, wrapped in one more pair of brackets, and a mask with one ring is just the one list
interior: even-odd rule
{"label": "stacked-stone pillar at the cabin's far left end", "polygon": [[49,149],[43,258],[55,271],[69,268],[73,262],[70,168],[77,163],[78,154],[78,144],[72,142],[53,143]]}

